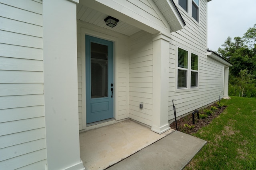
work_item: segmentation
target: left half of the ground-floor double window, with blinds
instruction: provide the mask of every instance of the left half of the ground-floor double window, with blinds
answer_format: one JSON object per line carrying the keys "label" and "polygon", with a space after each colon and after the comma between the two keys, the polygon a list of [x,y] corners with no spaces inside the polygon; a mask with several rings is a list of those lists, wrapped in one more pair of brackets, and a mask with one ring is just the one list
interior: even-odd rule
{"label": "left half of the ground-floor double window, with blinds", "polygon": [[188,51],[178,48],[178,88],[187,88]]}

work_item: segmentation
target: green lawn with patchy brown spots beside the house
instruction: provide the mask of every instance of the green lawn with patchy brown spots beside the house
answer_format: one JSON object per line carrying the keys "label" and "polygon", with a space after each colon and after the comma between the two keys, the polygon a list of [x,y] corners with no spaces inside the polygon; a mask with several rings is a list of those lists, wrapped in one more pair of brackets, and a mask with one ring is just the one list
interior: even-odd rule
{"label": "green lawn with patchy brown spots beside the house", "polygon": [[256,169],[256,99],[232,97],[219,117],[193,135],[205,145],[185,170]]}

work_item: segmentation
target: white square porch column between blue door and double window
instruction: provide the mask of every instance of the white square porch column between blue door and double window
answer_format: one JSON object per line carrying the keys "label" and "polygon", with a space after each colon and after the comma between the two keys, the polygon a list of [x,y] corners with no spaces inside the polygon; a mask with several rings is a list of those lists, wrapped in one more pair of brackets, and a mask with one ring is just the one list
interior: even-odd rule
{"label": "white square porch column between blue door and double window", "polygon": [[153,37],[153,116],[151,130],[164,133],[168,123],[168,75],[170,38],[157,34]]}

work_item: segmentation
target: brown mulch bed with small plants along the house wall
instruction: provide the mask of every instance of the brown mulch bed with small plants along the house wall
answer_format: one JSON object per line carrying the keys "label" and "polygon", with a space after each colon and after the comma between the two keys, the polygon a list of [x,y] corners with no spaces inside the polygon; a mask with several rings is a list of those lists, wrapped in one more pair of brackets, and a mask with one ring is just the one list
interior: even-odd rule
{"label": "brown mulch bed with small plants along the house wall", "polygon": [[[206,107],[205,109],[210,110],[211,106],[217,107],[218,103],[212,104],[212,105]],[[218,108],[218,110],[213,111],[213,113],[211,115],[208,115],[208,117],[206,117],[205,119],[198,119],[197,118],[197,113],[195,113],[195,124],[192,123],[192,113],[189,114],[189,115],[186,115],[184,117],[181,117],[180,119],[177,120],[178,131],[181,131],[181,132],[187,133],[187,134],[196,133],[202,127],[210,124],[212,119],[214,119],[215,117],[218,117],[218,115],[220,115],[220,113],[222,113],[224,111],[224,109],[226,109],[226,107],[227,106],[222,106],[221,108]],[[205,114],[204,109],[200,109],[199,113],[200,114]],[[192,128],[185,127],[184,126],[185,124],[187,124],[189,126],[192,126]],[[170,124],[170,127],[172,129],[176,130],[175,121]]]}

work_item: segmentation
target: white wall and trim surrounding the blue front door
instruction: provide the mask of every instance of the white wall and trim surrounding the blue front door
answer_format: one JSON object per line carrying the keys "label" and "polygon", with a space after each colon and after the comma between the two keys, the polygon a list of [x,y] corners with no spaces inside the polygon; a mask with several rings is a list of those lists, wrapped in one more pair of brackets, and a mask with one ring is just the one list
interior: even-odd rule
{"label": "white wall and trim surrounding the blue front door", "polygon": [[114,118],[128,118],[128,37],[77,20],[79,129],[86,129],[85,34],[114,42]]}

